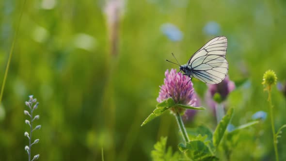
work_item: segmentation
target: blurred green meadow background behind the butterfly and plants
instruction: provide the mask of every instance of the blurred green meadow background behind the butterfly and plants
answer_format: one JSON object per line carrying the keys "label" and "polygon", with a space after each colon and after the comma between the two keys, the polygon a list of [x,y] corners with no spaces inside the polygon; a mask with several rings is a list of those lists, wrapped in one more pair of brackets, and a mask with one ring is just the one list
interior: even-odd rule
{"label": "blurred green meadow background behind the butterfly and plants", "polygon": [[[23,0],[0,1],[0,80],[19,23]],[[286,82],[286,2],[282,0],[27,0],[0,107],[0,161],[28,160],[24,146],[25,101],[40,102],[42,129],[32,155],[41,161],[151,160],[161,136],[177,150],[181,141],[169,113],[140,127],[154,110],[166,69],[178,68],[208,40],[228,38],[229,77],[237,88],[227,99],[232,124],[268,112],[262,76],[273,69]],[[179,40],[162,32],[171,23]],[[246,80],[246,81],[245,81]],[[242,85],[241,82],[245,82]],[[206,111],[187,127],[214,129],[205,103],[207,85],[194,80]],[[272,91],[276,130],[286,124],[286,96]],[[286,160],[286,134],[278,144]],[[223,152],[218,157],[225,160]],[[232,161],[273,161],[270,118],[246,129]]]}

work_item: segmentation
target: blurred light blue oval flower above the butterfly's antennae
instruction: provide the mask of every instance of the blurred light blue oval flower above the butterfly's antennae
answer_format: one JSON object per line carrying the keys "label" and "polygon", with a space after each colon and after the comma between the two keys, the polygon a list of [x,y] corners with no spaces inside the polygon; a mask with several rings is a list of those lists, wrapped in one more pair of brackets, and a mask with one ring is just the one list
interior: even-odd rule
{"label": "blurred light blue oval flower above the butterfly's antennae", "polygon": [[166,35],[171,41],[181,41],[183,33],[173,24],[165,23],[161,25],[161,32]]}

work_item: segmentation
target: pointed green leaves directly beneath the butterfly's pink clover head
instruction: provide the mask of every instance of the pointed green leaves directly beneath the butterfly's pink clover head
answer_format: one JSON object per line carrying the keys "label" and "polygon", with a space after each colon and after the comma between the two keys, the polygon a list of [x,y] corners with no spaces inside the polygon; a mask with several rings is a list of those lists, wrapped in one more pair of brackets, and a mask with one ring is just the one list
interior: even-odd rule
{"label": "pointed green leaves directly beneath the butterfly's pink clover head", "polygon": [[160,102],[159,104],[157,104],[156,109],[143,121],[141,126],[147,124],[148,122],[160,116],[161,114],[163,114],[163,112],[165,112],[166,110],[172,107],[175,107],[175,108],[180,107],[180,108],[192,109],[192,110],[206,110],[204,107],[191,107],[191,106],[182,105],[182,104],[175,104],[173,98],[167,98],[163,100],[162,102]]}

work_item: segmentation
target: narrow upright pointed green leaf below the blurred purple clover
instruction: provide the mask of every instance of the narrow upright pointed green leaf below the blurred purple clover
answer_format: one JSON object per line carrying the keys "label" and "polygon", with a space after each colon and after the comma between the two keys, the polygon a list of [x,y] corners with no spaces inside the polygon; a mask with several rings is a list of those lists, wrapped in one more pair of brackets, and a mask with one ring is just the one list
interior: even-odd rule
{"label": "narrow upright pointed green leaf below the blurred purple clover", "polygon": [[222,137],[224,135],[225,129],[227,128],[227,125],[230,122],[230,119],[232,117],[232,114],[233,114],[233,108],[230,108],[228,112],[225,114],[225,116],[222,117],[221,122],[215,129],[213,133],[213,145],[215,147],[218,147],[218,145],[220,144]]}

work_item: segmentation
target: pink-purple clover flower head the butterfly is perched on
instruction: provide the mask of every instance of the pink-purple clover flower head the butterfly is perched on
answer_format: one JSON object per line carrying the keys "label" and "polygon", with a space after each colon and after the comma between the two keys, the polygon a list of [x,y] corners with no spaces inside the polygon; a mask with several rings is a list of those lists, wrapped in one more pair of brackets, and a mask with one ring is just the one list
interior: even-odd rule
{"label": "pink-purple clover flower head the butterfly is perched on", "polygon": [[165,76],[164,84],[160,86],[157,101],[162,102],[164,99],[172,97],[175,103],[194,106],[196,97],[190,78],[182,73],[177,73],[176,69],[171,69],[170,73],[167,69]]}

